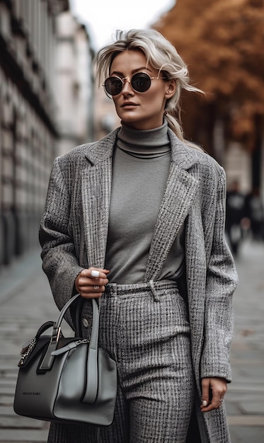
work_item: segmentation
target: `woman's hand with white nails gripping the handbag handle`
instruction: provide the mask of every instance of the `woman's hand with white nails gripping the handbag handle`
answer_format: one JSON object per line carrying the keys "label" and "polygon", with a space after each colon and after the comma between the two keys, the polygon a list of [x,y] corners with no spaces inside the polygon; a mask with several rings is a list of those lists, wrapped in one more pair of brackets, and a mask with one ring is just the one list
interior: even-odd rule
{"label": "woman's hand with white nails gripping the handbag handle", "polygon": [[82,270],[75,280],[77,292],[85,299],[98,299],[108,284],[107,275],[110,271],[99,267],[89,267]]}

